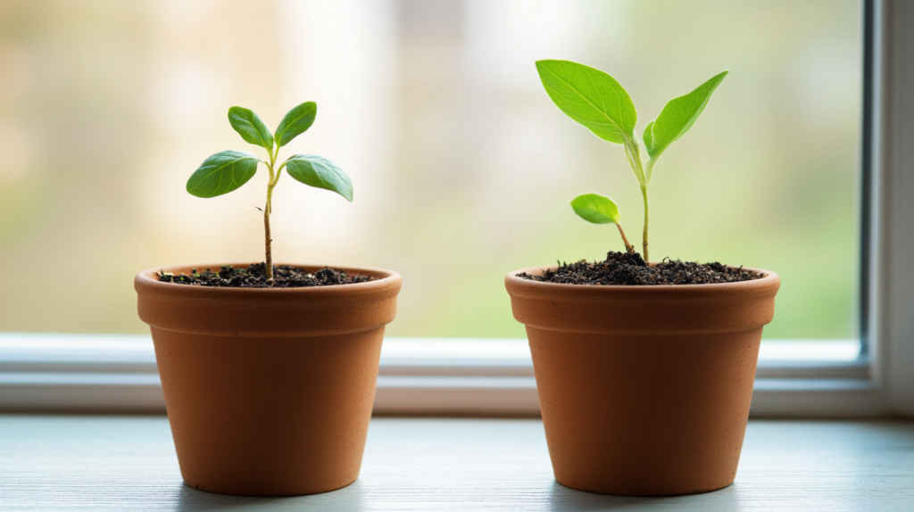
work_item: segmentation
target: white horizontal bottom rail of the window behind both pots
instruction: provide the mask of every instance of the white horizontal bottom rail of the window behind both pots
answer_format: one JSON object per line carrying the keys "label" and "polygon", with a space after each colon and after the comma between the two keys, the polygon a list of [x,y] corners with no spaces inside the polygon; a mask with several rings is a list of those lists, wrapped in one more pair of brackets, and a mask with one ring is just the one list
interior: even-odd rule
{"label": "white horizontal bottom rail of the window behind both pots", "polygon": [[[854,340],[763,340],[753,417],[886,412]],[[165,413],[148,335],[0,333],[0,411]],[[384,340],[376,414],[537,417],[526,340]]]}

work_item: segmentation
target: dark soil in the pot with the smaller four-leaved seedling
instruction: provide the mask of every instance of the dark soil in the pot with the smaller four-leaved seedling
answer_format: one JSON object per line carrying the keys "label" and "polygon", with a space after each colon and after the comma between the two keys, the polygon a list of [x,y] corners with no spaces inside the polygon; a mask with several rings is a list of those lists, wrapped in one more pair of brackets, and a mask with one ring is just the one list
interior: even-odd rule
{"label": "dark soil in the pot with the smaller four-leaved seedling", "polygon": [[[219,267],[218,272],[209,268],[197,272],[197,268],[194,268],[190,276],[186,274],[174,276],[161,271],[156,275],[159,277],[159,281],[165,283],[195,287],[268,288],[271,286],[267,284],[266,268],[267,266],[263,263],[254,263],[247,268],[232,268],[230,265],[223,265]],[[322,268],[314,274],[309,274],[302,268],[282,265],[273,266],[272,287],[329,287],[364,283],[374,279],[369,276],[349,276],[339,268]]]}

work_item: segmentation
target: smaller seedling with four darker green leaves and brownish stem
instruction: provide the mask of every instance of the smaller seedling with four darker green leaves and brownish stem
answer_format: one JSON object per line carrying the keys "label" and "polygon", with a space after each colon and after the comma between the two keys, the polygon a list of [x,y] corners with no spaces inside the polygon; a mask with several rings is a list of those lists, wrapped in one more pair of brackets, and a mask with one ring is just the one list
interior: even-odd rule
{"label": "smaller seedling with four darker green leaves and brownish stem", "polygon": [[267,150],[268,160],[261,160],[250,152],[218,152],[200,164],[187,180],[187,192],[197,197],[216,197],[238,189],[248,183],[257,173],[259,163],[267,166],[270,172],[267,181],[267,203],[263,207],[263,230],[266,240],[266,278],[273,280],[273,256],[270,235],[270,214],[272,213],[273,188],[280,181],[285,169],[292,178],[315,188],[323,188],[338,193],[352,203],[352,182],[334,162],[316,154],[292,155],[285,162],[276,166],[280,148],[292,139],[304,133],[314,124],[317,116],[317,104],[307,101],[289,110],[282,118],[279,127],[271,133],[267,125],[253,111],[232,107],[228,109],[228,122],[238,131],[245,142]]}

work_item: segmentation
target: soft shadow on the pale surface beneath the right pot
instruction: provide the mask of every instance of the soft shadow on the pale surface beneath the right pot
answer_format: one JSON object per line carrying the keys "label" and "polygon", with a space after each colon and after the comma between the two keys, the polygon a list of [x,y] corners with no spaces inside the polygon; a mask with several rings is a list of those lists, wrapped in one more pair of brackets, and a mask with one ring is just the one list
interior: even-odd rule
{"label": "soft shadow on the pale surface beneath the right pot", "polygon": [[615,496],[589,493],[552,483],[549,510],[553,512],[592,512],[599,510],[739,510],[734,486],[691,496]]}

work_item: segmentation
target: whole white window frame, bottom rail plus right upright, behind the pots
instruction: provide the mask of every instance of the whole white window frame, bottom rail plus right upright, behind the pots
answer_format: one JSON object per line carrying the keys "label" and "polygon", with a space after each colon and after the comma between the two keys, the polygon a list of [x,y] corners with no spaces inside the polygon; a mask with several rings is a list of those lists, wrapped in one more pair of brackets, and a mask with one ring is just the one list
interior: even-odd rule
{"label": "whole white window frame, bottom rail plus right upright, behind the pots", "polygon": [[[914,225],[914,2],[866,0],[865,9],[873,19],[862,187],[865,350],[843,362],[760,360],[754,417],[914,416],[914,227],[906,226]],[[375,412],[538,415],[529,353],[523,340],[513,343],[451,340],[442,352],[441,340],[385,340]],[[0,411],[164,413],[151,341],[0,334]]]}

